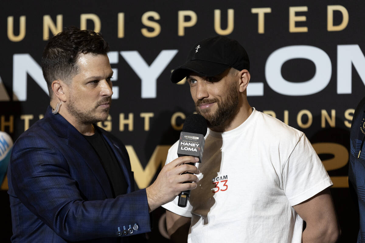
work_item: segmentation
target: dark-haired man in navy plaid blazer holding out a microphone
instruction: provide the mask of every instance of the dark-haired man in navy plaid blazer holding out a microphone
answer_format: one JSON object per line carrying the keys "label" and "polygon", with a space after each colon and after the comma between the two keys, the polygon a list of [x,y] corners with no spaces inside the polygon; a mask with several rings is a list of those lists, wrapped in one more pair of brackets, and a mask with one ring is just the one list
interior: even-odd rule
{"label": "dark-haired man in navy plaid blazer holding out a microphone", "polygon": [[14,144],[8,168],[12,242],[128,242],[151,230],[149,212],[193,189],[190,156],[134,191],[127,151],[95,124],[108,117],[113,71],[99,33],[70,27],[42,56],[50,106]]}

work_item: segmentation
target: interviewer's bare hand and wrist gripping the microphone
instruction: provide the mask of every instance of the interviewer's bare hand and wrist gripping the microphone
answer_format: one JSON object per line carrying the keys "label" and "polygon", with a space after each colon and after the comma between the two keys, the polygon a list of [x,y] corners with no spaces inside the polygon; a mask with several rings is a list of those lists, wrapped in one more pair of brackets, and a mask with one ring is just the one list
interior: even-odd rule
{"label": "interviewer's bare hand and wrist gripping the microphone", "polygon": [[[150,212],[172,201],[181,192],[196,188],[199,174],[198,168],[187,163],[198,162],[193,156],[182,156],[165,165],[158,174],[155,182],[146,188]],[[186,172],[192,174],[184,174]],[[195,183],[192,183],[195,182]],[[185,183],[184,183],[185,182]]]}

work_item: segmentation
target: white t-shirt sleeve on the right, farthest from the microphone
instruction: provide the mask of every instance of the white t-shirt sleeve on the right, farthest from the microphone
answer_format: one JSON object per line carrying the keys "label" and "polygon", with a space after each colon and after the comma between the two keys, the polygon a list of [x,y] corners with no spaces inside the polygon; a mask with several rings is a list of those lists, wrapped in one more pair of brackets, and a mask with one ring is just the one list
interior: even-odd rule
{"label": "white t-shirt sleeve on the right, farthest from the microphone", "polygon": [[283,186],[290,205],[297,205],[333,185],[308,138],[302,134],[284,164]]}

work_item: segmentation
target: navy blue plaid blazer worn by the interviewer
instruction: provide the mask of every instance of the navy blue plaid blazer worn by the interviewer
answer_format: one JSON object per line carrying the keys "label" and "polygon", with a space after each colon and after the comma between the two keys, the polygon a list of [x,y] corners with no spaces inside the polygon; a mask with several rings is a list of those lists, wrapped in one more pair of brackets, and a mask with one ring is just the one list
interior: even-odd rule
{"label": "navy blue plaid blazer worn by the interviewer", "polygon": [[[128,242],[149,232],[146,190],[134,191],[127,151],[100,129],[128,183],[112,196],[100,159],[89,142],[48,107],[15,142],[8,167],[12,242]],[[123,234],[135,224],[138,230]],[[136,227],[135,227],[136,228]]]}

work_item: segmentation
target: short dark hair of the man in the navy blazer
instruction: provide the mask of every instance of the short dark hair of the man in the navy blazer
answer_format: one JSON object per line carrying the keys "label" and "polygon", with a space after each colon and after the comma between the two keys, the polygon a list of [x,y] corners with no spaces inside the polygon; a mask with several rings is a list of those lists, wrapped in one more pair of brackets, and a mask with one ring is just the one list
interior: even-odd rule
{"label": "short dark hair of the man in the navy blazer", "polygon": [[101,33],[91,30],[80,30],[68,27],[51,37],[42,55],[43,77],[47,82],[49,95],[52,98],[51,84],[61,79],[70,84],[71,79],[78,73],[76,64],[80,54],[107,54],[109,45]]}

